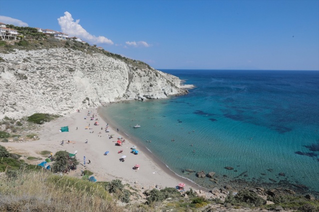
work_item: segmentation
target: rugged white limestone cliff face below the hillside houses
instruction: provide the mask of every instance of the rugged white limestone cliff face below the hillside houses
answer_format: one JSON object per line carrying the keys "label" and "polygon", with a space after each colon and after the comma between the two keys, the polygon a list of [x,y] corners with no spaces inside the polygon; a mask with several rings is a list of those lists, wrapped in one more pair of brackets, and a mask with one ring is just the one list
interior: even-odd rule
{"label": "rugged white limestone cliff face below the hillside houses", "polygon": [[0,54],[0,119],[186,94],[178,77],[65,48]]}

